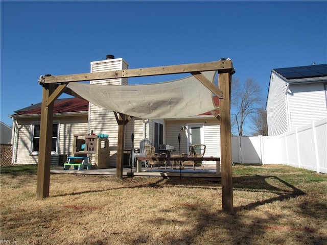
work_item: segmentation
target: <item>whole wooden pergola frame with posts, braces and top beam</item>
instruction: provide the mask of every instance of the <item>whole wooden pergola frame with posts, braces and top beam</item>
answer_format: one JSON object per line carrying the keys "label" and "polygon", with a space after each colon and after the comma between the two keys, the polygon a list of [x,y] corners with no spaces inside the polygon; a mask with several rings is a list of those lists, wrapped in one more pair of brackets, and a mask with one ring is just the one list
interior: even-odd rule
{"label": "whole wooden pergola frame with posts, braces and top beam", "polygon": [[[202,71],[211,70],[218,71],[219,87],[215,86],[201,73]],[[49,197],[54,102],[62,93],[78,96],[66,87],[68,83],[190,73],[220,99],[220,115],[217,115],[214,111],[212,111],[212,113],[218,120],[220,120],[222,209],[225,212],[232,212],[233,193],[231,168],[230,85],[231,76],[234,72],[232,61],[221,59],[216,62],[206,63],[125,69],[63,76],[41,76],[39,84],[42,85],[43,92],[36,197],[39,199]],[[125,125],[132,117],[119,112],[114,113],[119,125],[116,178],[122,179]]]}

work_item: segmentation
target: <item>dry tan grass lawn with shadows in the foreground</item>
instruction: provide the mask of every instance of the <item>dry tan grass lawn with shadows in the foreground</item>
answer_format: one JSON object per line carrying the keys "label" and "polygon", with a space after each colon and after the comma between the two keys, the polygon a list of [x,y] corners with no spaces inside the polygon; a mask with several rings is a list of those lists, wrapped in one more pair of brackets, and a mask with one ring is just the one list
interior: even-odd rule
{"label": "dry tan grass lawn with shadows in the foreground", "polygon": [[1,239],[19,244],[327,244],[327,176],[283,165],[233,166],[235,213],[197,179],[51,175],[2,167]]}

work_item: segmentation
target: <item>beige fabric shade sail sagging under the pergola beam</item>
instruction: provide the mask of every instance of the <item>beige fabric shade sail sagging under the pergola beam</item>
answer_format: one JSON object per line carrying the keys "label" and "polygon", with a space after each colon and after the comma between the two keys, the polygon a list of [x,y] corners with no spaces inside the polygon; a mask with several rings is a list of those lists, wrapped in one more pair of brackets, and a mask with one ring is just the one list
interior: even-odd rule
{"label": "beige fabric shade sail sagging under the pergola beam", "polygon": [[[213,81],[216,71],[202,74]],[[217,108],[212,92],[193,76],[156,84],[69,83],[67,87],[94,105],[139,118],[183,118]]]}

